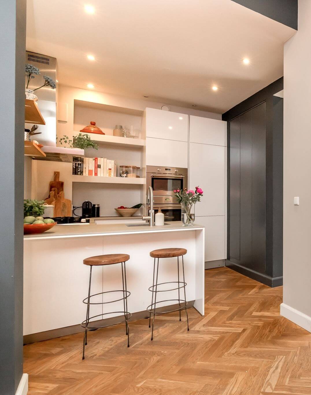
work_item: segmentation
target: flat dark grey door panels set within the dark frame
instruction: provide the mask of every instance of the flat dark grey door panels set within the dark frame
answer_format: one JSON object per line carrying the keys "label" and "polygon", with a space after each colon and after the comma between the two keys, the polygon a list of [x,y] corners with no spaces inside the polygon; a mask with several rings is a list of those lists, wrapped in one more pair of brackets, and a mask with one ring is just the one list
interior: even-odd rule
{"label": "flat dark grey door panels set within the dark frame", "polygon": [[229,260],[266,267],[266,103],[230,121]]}

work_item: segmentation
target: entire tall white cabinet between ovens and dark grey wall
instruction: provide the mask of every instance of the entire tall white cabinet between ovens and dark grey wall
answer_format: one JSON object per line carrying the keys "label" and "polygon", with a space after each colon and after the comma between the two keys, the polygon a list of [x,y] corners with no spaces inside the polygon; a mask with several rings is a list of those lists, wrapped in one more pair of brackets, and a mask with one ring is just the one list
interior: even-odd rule
{"label": "entire tall white cabinet between ovens and dark grey wall", "polygon": [[[205,226],[205,262],[226,258],[226,126],[221,120],[189,120],[189,186],[204,195],[196,223]],[[218,266],[216,263],[215,266]]]}

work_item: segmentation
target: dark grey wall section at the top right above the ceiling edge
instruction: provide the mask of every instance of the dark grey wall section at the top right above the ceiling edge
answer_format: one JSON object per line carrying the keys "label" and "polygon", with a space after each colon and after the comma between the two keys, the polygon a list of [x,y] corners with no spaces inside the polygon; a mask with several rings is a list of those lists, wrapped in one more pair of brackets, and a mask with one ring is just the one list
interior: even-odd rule
{"label": "dark grey wall section at the top right above the ceiling edge", "polygon": [[298,0],[232,0],[298,30]]}

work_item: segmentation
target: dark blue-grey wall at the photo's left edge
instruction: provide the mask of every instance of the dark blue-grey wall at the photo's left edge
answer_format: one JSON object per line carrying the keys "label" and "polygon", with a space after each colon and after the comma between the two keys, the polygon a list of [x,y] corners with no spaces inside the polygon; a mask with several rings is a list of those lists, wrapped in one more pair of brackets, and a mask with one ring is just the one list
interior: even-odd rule
{"label": "dark blue-grey wall at the photo's left edge", "polygon": [[0,0],[0,393],[22,377],[26,0]]}

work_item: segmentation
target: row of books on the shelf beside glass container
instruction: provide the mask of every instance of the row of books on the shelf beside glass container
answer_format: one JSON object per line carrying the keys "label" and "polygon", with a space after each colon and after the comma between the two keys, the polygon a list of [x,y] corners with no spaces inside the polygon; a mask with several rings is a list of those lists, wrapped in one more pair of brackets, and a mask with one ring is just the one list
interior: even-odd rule
{"label": "row of books on the shelf beside glass container", "polygon": [[117,162],[106,158],[74,156],[73,175],[117,177]]}

